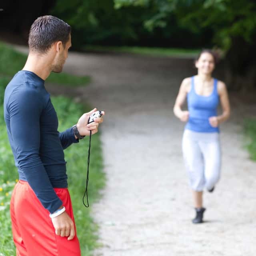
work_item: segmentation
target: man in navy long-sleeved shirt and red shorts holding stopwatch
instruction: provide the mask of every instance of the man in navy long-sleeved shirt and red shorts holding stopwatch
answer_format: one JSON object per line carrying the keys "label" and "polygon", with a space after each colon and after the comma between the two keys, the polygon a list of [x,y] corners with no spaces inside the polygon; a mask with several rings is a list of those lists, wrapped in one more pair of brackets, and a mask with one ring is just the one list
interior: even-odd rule
{"label": "man in navy long-sleeved shirt and red shorts holding stopwatch", "polygon": [[94,109],[72,128],[57,131],[58,118],[44,80],[52,71],[62,71],[70,33],[70,26],[56,17],[35,20],[26,64],[4,95],[4,118],[19,172],[10,204],[18,256],[80,256],[63,150],[90,131],[98,132],[103,119],[87,124]]}

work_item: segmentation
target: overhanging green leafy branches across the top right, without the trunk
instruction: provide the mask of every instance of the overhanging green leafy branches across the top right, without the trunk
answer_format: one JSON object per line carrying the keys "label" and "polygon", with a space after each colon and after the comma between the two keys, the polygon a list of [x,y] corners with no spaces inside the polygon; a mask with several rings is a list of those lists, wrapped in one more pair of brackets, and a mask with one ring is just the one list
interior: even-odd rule
{"label": "overhanging green leafy branches across the top right, without the trunk", "polygon": [[175,16],[180,26],[192,32],[211,28],[214,42],[228,50],[232,38],[242,36],[252,42],[256,32],[256,3],[240,0],[115,0],[116,8],[129,5],[151,6],[152,16],[144,22],[148,30],[166,27],[168,17]]}

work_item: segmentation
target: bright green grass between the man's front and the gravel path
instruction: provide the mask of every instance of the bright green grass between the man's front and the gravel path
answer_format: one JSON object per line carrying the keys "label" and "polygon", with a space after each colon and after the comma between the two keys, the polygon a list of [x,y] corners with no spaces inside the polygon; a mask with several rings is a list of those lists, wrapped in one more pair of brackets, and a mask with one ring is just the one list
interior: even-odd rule
{"label": "bright green grass between the man's front and the gravel path", "polygon": [[[91,110],[88,106],[82,106],[61,96],[53,98],[52,103],[58,114],[60,131],[75,124],[84,111]],[[64,151],[67,161],[68,187],[72,198],[82,255],[87,255],[90,250],[98,246],[96,243],[97,226],[90,217],[91,208],[85,208],[82,204],[86,185],[88,143],[89,137],[86,137]],[[94,134],[92,136],[88,186],[90,205],[99,197],[98,191],[103,188],[104,184],[100,138],[99,134]]]}

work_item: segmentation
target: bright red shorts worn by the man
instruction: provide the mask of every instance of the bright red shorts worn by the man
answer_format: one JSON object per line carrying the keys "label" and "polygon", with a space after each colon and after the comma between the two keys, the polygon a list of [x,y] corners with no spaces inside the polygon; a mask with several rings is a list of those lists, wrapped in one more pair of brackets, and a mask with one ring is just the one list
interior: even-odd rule
{"label": "bright red shorts worn by the man", "polygon": [[[67,188],[54,188],[74,221]],[[68,241],[57,236],[52,220],[28,182],[19,181],[12,193],[10,214],[17,256],[80,256],[77,236]]]}

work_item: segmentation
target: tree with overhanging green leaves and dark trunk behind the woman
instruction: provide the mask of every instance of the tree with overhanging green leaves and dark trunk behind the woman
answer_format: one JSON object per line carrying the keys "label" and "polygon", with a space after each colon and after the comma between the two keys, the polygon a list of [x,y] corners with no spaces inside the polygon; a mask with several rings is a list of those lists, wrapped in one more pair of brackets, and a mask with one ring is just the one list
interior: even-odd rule
{"label": "tree with overhanging green leaves and dark trunk behind the woman", "polygon": [[[115,7],[143,6],[154,10],[144,20],[152,31],[168,26],[175,16],[181,27],[194,33],[204,28],[213,31],[212,43],[226,54],[232,88],[256,87],[256,60],[252,54],[256,46],[256,2],[253,0],[115,0]],[[246,80],[246,83],[244,82]]]}

